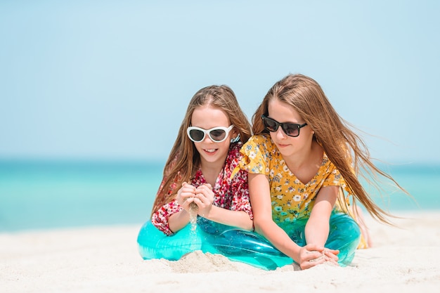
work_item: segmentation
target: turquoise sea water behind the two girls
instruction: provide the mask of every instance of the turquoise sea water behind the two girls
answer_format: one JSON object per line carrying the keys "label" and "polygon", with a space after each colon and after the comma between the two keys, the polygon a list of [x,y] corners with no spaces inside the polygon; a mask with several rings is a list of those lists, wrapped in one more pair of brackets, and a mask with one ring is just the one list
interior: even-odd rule
{"label": "turquoise sea water behind the two girls", "polygon": [[[0,232],[138,224],[150,209],[164,162],[0,161]],[[440,166],[387,167],[415,201],[388,188],[389,211],[439,210]],[[373,191],[372,191],[373,192]]]}

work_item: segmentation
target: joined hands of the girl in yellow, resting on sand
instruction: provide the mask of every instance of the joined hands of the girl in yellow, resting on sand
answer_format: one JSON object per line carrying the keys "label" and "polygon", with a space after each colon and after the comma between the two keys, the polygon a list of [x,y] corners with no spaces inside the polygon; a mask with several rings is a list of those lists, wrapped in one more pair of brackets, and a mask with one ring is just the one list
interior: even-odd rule
{"label": "joined hands of the girl in yellow, resting on sand", "polygon": [[338,265],[337,254],[339,254],[339,250],[326,249],[318,245],[306,245],[299,249],[299,266],[305,270],[325,261]]}

